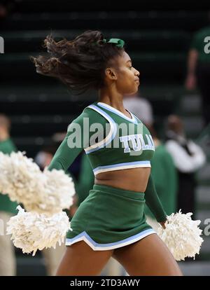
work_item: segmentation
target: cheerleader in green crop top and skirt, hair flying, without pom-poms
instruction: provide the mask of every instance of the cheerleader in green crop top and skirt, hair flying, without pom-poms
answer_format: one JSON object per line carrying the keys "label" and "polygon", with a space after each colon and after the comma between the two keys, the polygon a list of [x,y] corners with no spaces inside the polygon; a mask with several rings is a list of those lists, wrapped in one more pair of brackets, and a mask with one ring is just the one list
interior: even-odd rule
{"label": "cheerleader in green crop top and skirt, hair flying, without pom-poms", "polygon": [[123,106],[123,96],[139,88],[139,71],[124,45],[88,30],[72,41],[47,36],[48,55],[33,57],[39,74],[58,78],[73,91],[98,92],[98,100],[69,125],[48,167],[66,172],[84,150],[94,172],[94,186],[71,220],[57,275],[99,275],[111,257],[129,275],[182,275],[146,223],[145,202],[163,228],[167,214],[151,176],[151,134]]}

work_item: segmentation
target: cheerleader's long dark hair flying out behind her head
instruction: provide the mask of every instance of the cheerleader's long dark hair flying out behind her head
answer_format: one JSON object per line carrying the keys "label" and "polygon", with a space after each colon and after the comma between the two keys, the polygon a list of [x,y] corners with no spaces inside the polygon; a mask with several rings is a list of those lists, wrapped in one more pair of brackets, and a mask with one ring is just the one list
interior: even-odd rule
{"label": "cheerleader's long dark hair flying out behind her head", "polygon": [[106,67],[124,51],[124,48],[104,41],[102,32],[97,30],[87,30],[72,41],[62,39],[56,42],[48,35],[44,47],[48,48],[47,55],[31,57],[36,72],[58,78],[78,94],[103,88]]}

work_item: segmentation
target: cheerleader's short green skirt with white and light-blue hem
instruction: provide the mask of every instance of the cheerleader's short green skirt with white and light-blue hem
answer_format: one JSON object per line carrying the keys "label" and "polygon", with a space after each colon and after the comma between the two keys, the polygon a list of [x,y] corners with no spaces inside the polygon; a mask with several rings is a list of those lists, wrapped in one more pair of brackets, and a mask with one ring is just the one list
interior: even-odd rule
{"label": "cheerleader's short green skirt with white and light-blue hem", "polygon": [[155,233],[144,204],[144,193],[94,185],[71,219],[66,245],[83,240],[95,251],[116,249]]}

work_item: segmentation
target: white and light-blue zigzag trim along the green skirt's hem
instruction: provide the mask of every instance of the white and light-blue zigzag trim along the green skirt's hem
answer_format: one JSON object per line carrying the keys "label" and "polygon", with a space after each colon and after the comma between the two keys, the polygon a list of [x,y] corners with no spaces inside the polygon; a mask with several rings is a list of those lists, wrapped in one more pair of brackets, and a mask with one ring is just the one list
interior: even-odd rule
{"label": "white and light-blue zigzag trim along the green skirt's hem", "polygon": [[127,237],[127,239],[120,240],[118,242],[111,242],[107,244],[99,244],[97,242],[94,242],[90,235],[87,235],[85,231],[83,233],[80,233],[79,235],[76,235],[76,237],[73,237],[72,239],[66,238],[66,246],[71,246],[71,244],[74,244],[76,242],[84,241],[86,242],[94,251],[105,251],[109,249],[117,249],[120,247],[124,247],[127,244],[132,244],[134,242],[137,242],[147,235],[151,234],[157,234],[155,230],[152,228],[149,228],[148,230],[144,230],[141,233],[138,233],[137,235],[132,235],[132,237]]}

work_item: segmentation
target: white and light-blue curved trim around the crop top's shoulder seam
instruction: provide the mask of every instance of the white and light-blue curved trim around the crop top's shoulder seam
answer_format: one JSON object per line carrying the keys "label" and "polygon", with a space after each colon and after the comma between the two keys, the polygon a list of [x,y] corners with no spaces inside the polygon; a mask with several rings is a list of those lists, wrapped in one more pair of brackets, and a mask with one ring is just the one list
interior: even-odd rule
{"label": "white and light-blue curved trim around the crop top's shoulder seam", "polygon": [[93,145],[84,149],[85,153],[89,154],[91,152],[94,152],[94,151],[97,151],[97,150],[103,148],[104,146],[107,146],[107,144],[109,144],[113,140],[113,138],[116,136],[117,126],[116,126],[116,123],[114,122],[113,118],[111,118],[102,109],[99,109],[97,106],[94,106],[92,104],[90,106],[87,106],[87,108],[90,108],[90,109],[93,109],[94,111],[97,111],[97,113],[99,113],[104,118],[106,118],[106,120],[108,120],[109,124],[110,124],[110,131],[109,131],[109,134],[106,136],[106,138],[104,138],[103,140],[99,141],[98,143],[93,144]]}

